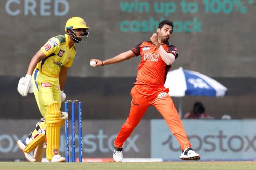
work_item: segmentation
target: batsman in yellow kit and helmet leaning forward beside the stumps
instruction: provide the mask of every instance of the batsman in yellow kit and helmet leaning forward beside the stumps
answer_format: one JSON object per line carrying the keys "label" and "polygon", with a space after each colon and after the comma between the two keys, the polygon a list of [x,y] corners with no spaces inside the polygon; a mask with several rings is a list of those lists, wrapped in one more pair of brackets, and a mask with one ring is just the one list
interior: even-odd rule
{"label": "batsman in yellow kit and helmet leaning forward beside the stumps", "polygon": [[17,142],[29,162],[41,161],[42,143],[46,143],[47,162],[66,161],[59,154],[59,138],[68,114],[60,112],[60,107],[66,98],[64,85],[76,55],[75,43],[86,41],[88,29],[82,18],[68,19],[66,34],[50,38],[31,59],[26,76],[19,80],[18,92],[23,97],[34,93],[42,115],[35,130]]}

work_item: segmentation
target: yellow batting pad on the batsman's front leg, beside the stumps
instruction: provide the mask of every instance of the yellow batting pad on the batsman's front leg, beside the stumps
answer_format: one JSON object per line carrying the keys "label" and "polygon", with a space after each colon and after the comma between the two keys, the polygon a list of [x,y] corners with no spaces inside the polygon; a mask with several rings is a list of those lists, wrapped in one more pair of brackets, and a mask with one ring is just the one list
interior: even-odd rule
{"label": "yellow batting pad on the batsman's front leg, beside the stumps", "polygon": [[50,103],[46,110],[46,159],[59,154],[61,113],[57,101]]}

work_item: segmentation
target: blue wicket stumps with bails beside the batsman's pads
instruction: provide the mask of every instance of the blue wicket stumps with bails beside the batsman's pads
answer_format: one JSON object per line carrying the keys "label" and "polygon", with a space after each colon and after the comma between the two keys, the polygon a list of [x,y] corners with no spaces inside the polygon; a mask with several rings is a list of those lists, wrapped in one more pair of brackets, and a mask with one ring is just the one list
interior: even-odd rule
{"label": "blue wicket stumps with bails beside the batsman's pads", "polygon": [[[68,104],[71,103],[71,142],[72,142],[72,158],[71,162],[76,161],[75,154],[75,105],[78,104],[78,144],[79,144],[79,162],[82,162],[82,102],[79,100],[67,100],[64,102],[64,110],[68,113]],[[65,121],[65,155],[66,162],[69,162],[69,123],[68,118]]]}

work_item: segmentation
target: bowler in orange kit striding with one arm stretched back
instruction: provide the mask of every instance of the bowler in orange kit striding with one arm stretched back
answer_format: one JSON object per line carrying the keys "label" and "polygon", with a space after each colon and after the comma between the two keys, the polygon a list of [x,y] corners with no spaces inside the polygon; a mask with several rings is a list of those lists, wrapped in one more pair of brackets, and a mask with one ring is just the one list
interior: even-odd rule
{"label": "bowler in orange kit striding with one arm stretched back", "polygon": [[172,33],[173,22],[163,20],[159,23],[157,32],[150,37],[150,41],[141,42],[131,50],[104,61],[91,59],[91,61],[96,61],[94,67],[97,67],[141,56],[136,82],[131,90],[130,114],[114,141],[113,158],[116,162],[122,162],[123,143],[129,138],[147,108],[151,105],[163,116],[168,127],[178,140],[182,150],[180,159],[199,160],[201,157],[191,149],[191,144],[187,139],[181,119],[172,99],[168,95],[169,89],[164,87],[167,72],[178,57],[177,48],[168,42]]}

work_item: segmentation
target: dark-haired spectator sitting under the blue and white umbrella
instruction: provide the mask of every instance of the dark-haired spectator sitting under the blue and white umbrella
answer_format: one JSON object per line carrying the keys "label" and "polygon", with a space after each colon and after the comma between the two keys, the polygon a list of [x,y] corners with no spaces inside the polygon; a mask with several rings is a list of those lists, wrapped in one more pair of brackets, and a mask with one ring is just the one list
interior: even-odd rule
{"label": "dark-haired spectator sitting under the blue and white umbrella", "polygon": [[205,113],[205,108],[201,102],[195,102],[190,112],[184,116],[187,119],[214,118]]}

